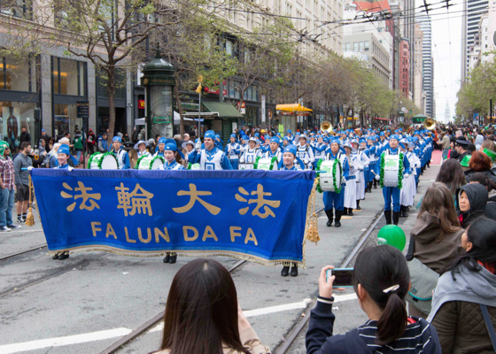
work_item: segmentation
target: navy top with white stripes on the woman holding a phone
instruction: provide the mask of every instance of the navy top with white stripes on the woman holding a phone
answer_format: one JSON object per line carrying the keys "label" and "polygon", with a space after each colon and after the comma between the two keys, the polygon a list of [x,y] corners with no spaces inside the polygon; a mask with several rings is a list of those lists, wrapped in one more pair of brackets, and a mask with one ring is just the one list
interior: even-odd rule
{"label": "navy top with white stripes on the woman holding a phone", "polygon": [[417,348],[423,349],[423,354],[441,354],[438,333],[425,319],[413,318],[415,323],[407,326],[407,331],[401,339],[382,347],[374,342],[376,321],[369,320],[364,326],[345,335],[332,335],[335,319],[332,304],[317,302],[310,314],[310,324],[306,332],[306,354],[416,354]]}

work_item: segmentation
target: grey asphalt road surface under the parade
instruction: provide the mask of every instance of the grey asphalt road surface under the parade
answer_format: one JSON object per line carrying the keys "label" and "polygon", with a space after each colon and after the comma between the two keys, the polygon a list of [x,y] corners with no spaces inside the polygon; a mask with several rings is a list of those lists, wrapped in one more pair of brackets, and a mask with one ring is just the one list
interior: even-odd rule
{"label": "grey asphalt road surface under the parade", "polygon": [[[432,165],[421,178],[416,200],[435,179]],[[322,195],[317,195],[317,208]],[[343,227],[326,227],[319,215],[321,242],[306,243],[306,266],[297,278],[280,276],[281,267],[264,267],[250,262],[232,273],[241,307],[249,314],[260,340],[272,350],[285,341],[291,328],[303,319],[306,299],[317,294],[322,266],[339,266],[353,250],[376,216],[382,212],[381,189],[372,189],[360,203],[361,211],[343,217]],[[416,211],[400,219],[407,236]],[[43,245],[43,229],[35,227],[0,234],[0,258]],[[376,244],[378,222],[364,246]],[[405,250],[406,251],[406,250]],[[0,354],[2,353],[99,353],[113,342],[163,312],[174,274],[191,258],[178,258],[164,265],[162,258],[130,258],[104,252],[78,253],[66,261],[54,261],[47,249],[0,260]],[[229,267],[234,258],[215,258]],[[353,266],[353,261],[350,266]],[[43,280],[51,275],[48,280]],[[34,281],[39,281],[30,285]],[[25,287],[25,288],[23,288]],[[348,291],[345,294],[352,294]],[[339,296],[345,294],[338,294]],[[285,305],[283,308],[267,309]],[[252,312],[253,310],[260,310]],[[367,318],[355,299],[335,304],[336,333],[360,326]],[[305,331],[291,347],[305,352]],[[159,327],[138,337],[121,353],[149,353],[159,348]]]}

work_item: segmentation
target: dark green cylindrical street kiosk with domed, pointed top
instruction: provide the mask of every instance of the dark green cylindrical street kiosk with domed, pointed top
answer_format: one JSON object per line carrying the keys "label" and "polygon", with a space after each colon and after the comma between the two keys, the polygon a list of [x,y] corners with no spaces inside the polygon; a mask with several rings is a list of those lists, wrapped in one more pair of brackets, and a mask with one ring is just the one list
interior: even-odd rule
{"label": "dark green cylindrical street kiosk with domed, pointed top", "polygon": [[173,92],[175,68],[160,58],[159,51],[150,63],[143,66],[142,85],[145,87],[146,136],[152,133],[167,138],[174,135]]}

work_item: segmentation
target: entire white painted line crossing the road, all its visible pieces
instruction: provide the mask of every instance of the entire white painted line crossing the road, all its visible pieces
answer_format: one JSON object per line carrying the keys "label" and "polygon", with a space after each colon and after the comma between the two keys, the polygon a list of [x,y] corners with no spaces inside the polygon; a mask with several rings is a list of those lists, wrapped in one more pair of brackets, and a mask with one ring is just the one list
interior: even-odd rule
{"label": "entire white painted line crossing the road, all its visible pieces", "polygon": [[[356,298],[357,298],[356,294],[337,295],[334,296],[335,299],[334,302],[341,303],[343,301],[354,300]],[[267,315],[269,313],[275,313],[275,312],[306,309],[306,306],[311,302],[312,300],[307,298],[303,301],[299,301],[298,303],[280,304],[277,306],[264,307],[262,309],[249,310],[244,312],[244,316],[255,317],[255,316]],[[163,329],[164,329],[164,324],[162,322],[159,325],[151,328],[147,333],[159,332]],[[17,353],[19,351],[37,350],[48,347],[60,347],[63,345],[101,341],[104,339],[122,337],[124,335],[128,335],[131,332],[132,330],[128,328],[115,328],[105,331],[85,333],[82,335],[68,335],[66,337],[42,339],[39,341],[0,345],[0,354],[11,354],[11,353]]]}

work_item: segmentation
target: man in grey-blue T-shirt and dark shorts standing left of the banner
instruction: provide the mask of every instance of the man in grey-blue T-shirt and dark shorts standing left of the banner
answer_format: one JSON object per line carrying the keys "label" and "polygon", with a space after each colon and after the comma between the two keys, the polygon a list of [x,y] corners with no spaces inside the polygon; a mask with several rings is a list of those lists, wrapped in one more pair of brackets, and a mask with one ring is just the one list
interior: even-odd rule
{"label": "man in grey-blue T-shirt and dark shorts standing left of the banner", "polygon": [[19,154],[14,159],[14,181],[17,189],[17,221],[26,222],[27,206],[29,204],[29,171],[22,168],[33,167],[33,161],[27,156],[31,151],[29,142],[22,142]]}

